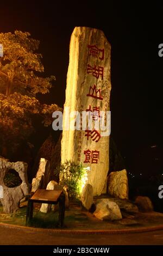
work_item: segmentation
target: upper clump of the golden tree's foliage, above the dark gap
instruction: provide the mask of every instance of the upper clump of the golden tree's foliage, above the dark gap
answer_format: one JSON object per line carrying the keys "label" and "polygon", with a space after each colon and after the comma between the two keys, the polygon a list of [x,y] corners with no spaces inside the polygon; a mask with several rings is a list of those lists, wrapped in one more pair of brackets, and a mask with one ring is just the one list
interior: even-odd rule
{"label": "upper clump of the golden tree's foliage, above the dark gap", "polygon": [[44,71],[42,56],[35,53],[39,41],[30,38],[28,32],[15,31],[14,34],[0,33],[0,42],[4,49],[4,57],[0,61],[1,91],[6,95],[12,92],[26,95],[48,93],[55,77],[37,76],[36,72]]}

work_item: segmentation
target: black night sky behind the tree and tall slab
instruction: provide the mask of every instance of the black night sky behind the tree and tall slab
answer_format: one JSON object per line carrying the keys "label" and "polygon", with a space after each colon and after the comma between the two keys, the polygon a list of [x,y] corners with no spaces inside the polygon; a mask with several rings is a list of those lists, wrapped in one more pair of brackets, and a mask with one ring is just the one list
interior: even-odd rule
{"label": "black night sky behind the tree and tall slab", "polygon": [[[163,7],[155,2],[145,7],[137,1],[112,2],[1,1],[0,31],[28,31],[40,40],[45,73],[57,78],[41,100],[63,107],[73,28],[102,29],[111,44],[111,135],[131,170],[155,172],[150,148],[158,145],[160,154],[163,146],[163,57],[158,56]],[[47,134],[42,136],[40,144]]]}

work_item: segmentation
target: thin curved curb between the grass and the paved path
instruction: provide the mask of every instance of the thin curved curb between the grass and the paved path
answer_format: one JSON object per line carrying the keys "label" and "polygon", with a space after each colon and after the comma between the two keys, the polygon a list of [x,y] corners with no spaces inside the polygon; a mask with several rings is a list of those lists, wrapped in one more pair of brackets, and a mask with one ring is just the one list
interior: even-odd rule
{"label": "thin curved curb between the grass and the paved path", "polygon": [[8,229],[23,229],[26,231],[34,232],[49,232],[53,234],[127,234],[127,233],[143,233],[148,231],[163,230],[163,224],[152,226],[152,227],[142,227],[142,228],[128,228],[128,229],[109,229],[109,230],[73,230],[73,229],[46,229],[46,228],[33,228],[24,227],[21,225],[7,224],[0,222],[0,227]]}

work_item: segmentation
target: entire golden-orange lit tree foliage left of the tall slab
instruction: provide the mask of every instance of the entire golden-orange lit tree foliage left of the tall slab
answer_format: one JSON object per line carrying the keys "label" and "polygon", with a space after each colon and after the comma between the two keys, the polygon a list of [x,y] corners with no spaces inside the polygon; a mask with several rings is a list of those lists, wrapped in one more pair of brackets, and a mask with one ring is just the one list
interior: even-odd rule
{"label": "entire golden-orange lit tree foliage left of the tall slab", "polygon": [[44,71],[42,56],[36,52],[39,41],[28,32],[15,31],[0,33],[0,43],[4,49],[0,58],[0,143],[2,148],[15,150],[34,131],[34,115],[40,115],[43,125],[48,126],[52,113],[62,109],[36,99],[37,93],[48,93],[55,80],[54,76],[39,76]]}

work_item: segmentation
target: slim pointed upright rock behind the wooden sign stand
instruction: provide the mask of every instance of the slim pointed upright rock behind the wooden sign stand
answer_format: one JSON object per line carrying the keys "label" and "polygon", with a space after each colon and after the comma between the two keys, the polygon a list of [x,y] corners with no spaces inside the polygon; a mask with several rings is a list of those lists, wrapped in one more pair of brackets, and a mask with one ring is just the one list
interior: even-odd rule
{"label": "slim pointed upright rock behind the wooden sign stand", "polygon": [[38,188],[46,188],[50,178],[49,162],[41,158],[36,177],[32,180],[32,192],[35,192]]}

